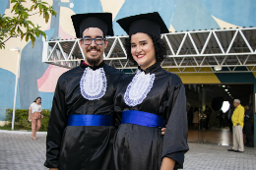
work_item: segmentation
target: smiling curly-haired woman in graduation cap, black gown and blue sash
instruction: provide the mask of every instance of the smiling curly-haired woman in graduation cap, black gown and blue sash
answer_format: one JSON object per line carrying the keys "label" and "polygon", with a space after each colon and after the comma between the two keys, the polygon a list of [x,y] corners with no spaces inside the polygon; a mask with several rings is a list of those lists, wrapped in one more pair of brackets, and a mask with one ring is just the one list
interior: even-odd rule
{"label": "smiling curly-haired woman in graduation cap, black gown and blue sash", "polygon": [[[117,23],[129,34],[126,52],[140,65],[116,89],[115,106],[122,113],[113,146],[111,170],[169,170],[183,167],[188,150],[185,88],[177,75],[161,69],[168,32],[159,13],[124,18]],[[161,128],[165,127],[164,136]]]}

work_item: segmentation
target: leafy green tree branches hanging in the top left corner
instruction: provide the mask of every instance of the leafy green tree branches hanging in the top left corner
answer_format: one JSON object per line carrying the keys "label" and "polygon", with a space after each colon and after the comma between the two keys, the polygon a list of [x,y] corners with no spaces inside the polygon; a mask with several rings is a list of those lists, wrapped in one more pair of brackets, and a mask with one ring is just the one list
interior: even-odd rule
{"label": "leafy green tree branches hanging in the top left corner", "polygon": [[46,39],[46,34],[40,29],[38,25],[34,26],[29,20],[30,16],[39,14],[42,16],[45,23],[48,23],[49,16],[56,17],[56,11],[53,7],[41,0],[32,1],[31,8],[26,8],[24,5],[26,0],[11,0],[14,4],[11,13],[12,17],[7,17],[5,14],[0,14],[0,49],[5,48],[5,42],[12,37],[21,36],[21,40],[25,37],[26,41],[32,40],[32,47],[34,45],[35,36],[42,35]]}

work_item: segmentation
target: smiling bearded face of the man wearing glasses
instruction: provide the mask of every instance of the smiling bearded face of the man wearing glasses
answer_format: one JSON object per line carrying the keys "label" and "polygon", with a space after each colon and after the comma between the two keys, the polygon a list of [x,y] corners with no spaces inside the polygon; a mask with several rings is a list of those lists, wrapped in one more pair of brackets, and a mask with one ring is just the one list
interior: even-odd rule
{"label": "smiling bearded face of the man wearing glasses", "polygon": [[[83,37],[88,38],[103,38],[103,32],[99,28],[87,28],[83,31]],[[103,41],[101,45],[97,45],[95,40],[87,45],[79,41],[80,46],[85,55],[85,62],[90,66],[97,66],[103,60],[103,52],[107,46],[107,40]]]}

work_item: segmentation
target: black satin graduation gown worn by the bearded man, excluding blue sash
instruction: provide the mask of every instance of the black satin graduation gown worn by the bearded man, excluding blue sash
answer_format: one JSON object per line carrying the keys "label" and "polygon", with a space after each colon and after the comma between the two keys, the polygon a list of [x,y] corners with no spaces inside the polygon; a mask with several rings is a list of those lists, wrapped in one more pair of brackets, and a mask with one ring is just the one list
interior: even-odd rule
{"label": "black satin graduation gown worn by the bearded man, excluding blue sash", "polygon": [[[67,126],[72,114],[113,115],[113,97],[120,71],[104,64],[106,78],[105,94],[96,100],[84,98],[80,81],[85,68],[81,63],[58,80],[46,138],[46,161],[48,168],[59,170],[108,170],[116,127],[113,126]],[[115,121],[114,121],[115,122]],[[118,125],[117,125],[118,126]]]}

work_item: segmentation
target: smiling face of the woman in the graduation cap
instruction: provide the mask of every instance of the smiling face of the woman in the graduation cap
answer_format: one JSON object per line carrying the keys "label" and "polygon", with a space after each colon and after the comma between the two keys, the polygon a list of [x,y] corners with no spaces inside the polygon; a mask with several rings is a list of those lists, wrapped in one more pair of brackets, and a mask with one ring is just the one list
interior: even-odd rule
{"label": "smiling face of the woman in the graduation cap", "polygon": [[131,53],[143,70],[157,62],[153,40],[147,33],[138,32],[131,36]]}

